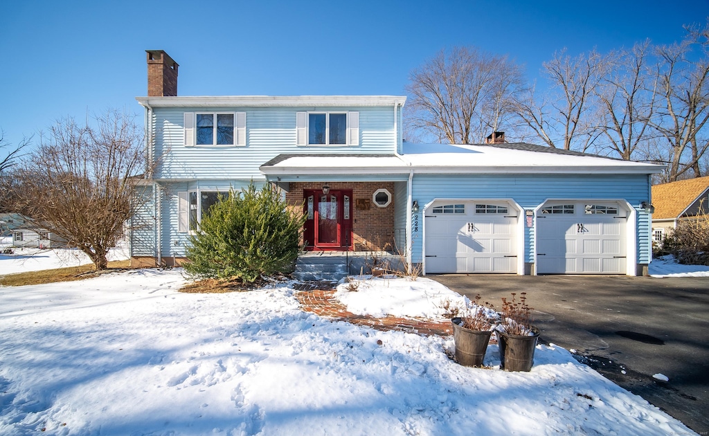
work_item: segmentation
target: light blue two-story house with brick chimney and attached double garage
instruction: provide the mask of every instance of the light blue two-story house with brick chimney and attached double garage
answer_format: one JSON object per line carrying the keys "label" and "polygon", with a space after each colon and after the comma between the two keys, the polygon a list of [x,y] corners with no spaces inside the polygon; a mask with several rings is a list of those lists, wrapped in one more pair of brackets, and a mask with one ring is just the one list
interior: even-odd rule
{"label": "light blue two-story house with brick chimney and attached double garage", "polygon": [[661,167],[492,133],[478,145],[403,141],[405,96],[177,96],[147,51],[146,206],[131,254],[184,258],[218,193],[279,186],[308,250],[389,250],[428,273],[643,274],[650,174]]}

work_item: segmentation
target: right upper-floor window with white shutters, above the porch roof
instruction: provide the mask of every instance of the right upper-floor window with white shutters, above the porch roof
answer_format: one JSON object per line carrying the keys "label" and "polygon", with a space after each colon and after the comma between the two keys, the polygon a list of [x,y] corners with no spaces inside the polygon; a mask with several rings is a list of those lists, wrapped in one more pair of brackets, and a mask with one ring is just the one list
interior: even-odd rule
{"label": "right upper-floor window with white shutters, above the porch roof", "polygon": [[298,112],[296,143],[359,145],[359,112]]}

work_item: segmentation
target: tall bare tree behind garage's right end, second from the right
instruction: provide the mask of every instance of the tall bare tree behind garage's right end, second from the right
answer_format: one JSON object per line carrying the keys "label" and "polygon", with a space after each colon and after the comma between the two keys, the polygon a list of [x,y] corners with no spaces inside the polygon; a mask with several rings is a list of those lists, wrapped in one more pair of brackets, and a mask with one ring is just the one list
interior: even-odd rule
{"label": "tall bare tree behind garage's right end, second from the right", "polygon": [[598,130],[605,147],[623,160],[631,160],[637,147],[648,140],[657,96],[657,77],[652,77],[649,40],[630,50],[618,50],[605,57],[606,73],[594,94],[598,99]]}

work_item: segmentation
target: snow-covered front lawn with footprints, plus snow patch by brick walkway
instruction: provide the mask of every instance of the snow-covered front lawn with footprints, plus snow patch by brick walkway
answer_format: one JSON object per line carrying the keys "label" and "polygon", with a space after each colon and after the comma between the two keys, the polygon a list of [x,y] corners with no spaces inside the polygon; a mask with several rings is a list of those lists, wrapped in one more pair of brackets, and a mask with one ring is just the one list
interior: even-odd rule
{"label": "snow-covered front lawn with footprints, plus snow patch by brick walkway", "polygon": [[[447,358],[452,339],[333,323],[302,312],[287,285],[183,283],[179,269],[143,269],[0,287],[0,434],[691,433],[561,347],[540,345],[531,372],[510,373],[490,346],[492,369],[472,369]],[[372,281],[395,305],[400,285],[431,299],[425,279]],[[382,306],[366,310],[393,311]]]}

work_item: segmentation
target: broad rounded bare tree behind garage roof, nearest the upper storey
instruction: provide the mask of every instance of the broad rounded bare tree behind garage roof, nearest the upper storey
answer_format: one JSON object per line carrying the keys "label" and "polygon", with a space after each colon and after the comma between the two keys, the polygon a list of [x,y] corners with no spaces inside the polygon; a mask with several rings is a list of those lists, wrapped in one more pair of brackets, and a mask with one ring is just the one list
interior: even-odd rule
{"label": "broad rounded bare tree behind garage roof, nearest the upper storey", "polygon": [[523,69],[505,56],[476,47],[441,50],[411,72],[408,129],[452,144],[481,142],[506,125],[523,83]]}

